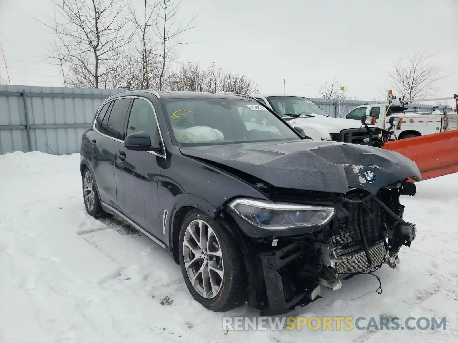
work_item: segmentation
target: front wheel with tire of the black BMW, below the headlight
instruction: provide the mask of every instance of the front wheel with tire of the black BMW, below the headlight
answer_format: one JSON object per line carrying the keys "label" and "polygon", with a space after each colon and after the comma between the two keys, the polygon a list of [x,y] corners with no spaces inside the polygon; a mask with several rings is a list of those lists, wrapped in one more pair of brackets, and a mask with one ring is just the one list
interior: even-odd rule
{"label": "front wheel with tire of the black BMW, below the headlight", "polygon": [[186,214],[180,228],[180,266],[194,300],[215,312],[245,303],[245,266],[222,225],[200,210]]}

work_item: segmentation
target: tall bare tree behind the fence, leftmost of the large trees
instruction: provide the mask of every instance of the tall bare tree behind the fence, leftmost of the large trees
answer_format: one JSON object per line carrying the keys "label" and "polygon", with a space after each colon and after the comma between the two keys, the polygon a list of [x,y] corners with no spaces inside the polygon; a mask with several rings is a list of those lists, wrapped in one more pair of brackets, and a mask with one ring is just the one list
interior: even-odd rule
{"label": "tall bare tree behind the fence, leftmost of the large trees", "polygon": [[43,23],[56,36],[51,60],[68,68],[66,83],[75,87],[110,86],[110,74],[117,72],[131,43],[132,33],[122,13],[125,0],[51,0],[63,21]]}

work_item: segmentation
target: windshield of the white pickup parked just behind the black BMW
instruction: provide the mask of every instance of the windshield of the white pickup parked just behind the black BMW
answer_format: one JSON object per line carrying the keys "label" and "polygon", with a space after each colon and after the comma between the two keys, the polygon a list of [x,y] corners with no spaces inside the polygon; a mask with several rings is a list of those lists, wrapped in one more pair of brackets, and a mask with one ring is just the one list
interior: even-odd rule
{"label": "windshield of the white pickup parked just behind the black BMW", "polygon": [[267,100],[283,116],[329,117],[315,102],[302,96],[268,96]]}

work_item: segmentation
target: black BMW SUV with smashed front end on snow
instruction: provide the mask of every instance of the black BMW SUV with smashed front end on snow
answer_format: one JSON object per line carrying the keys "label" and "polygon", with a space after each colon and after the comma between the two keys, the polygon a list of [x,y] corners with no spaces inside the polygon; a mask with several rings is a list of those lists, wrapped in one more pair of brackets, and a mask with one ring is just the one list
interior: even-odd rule
{"label": "black BMW SUV with smashed front end on snow", "polygon": [[243,94],[132,90],[82,136],[87,212],[119,216],[180,264],[213,311],[288,312],[345,276],[394,268],[415,225],[413,161],[305,139]]}

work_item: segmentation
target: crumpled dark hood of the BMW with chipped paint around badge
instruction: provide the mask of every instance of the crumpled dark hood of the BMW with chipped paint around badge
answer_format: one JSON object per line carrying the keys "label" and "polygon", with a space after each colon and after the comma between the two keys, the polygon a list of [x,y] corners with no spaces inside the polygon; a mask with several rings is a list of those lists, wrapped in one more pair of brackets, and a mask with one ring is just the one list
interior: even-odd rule
{"label": "crumpled dark hood of the BMW with chipped paint around badge", "polygon": [[[180,151],[281,188],[331,193],[360,188],[376,194],[393,182],[421,178],[414,161],[397,152],[367,145],[300,140],[181,147]],[[375,175],[373,182],[365,180],[366,171]]]}

